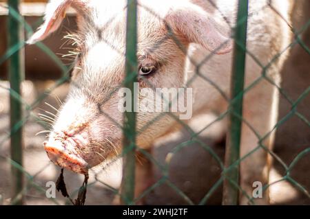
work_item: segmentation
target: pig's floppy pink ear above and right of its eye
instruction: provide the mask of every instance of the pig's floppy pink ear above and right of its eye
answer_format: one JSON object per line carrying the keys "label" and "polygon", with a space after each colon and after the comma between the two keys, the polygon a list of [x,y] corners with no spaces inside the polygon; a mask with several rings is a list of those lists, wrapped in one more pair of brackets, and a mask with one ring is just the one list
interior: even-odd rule
{"label": "pig's floppy pink ear above and right of its eye", "polygon": [[180,5],[168,12],[165,21],[187,43],[198,43],[215,54],[231,51],[231,40],[219,32],[216,21],[197,5]]}

